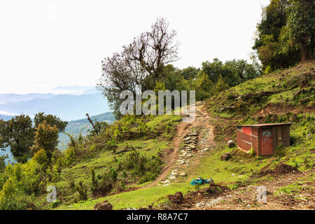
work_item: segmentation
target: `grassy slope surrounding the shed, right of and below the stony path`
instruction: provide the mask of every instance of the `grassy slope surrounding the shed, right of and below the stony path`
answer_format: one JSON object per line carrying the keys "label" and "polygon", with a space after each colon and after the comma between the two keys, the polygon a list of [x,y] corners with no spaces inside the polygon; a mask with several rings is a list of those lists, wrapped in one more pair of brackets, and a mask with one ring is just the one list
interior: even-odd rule
{"label": "grassy slope surrounding the shed, right of and below the stony path", "polygon": [[[314,70],[311,70],[315,68],[314,64],[314,62],[309,62],[293,69],[248,80],[209,99],[207,102],[209,113],[216,118],[214,125],[216,125],[218,147],[204,155],[197,169],[191,170],[192,175],[186,179],[176,180],[169,186],[144,188],[71,205],[62,204],[58,209],[93,209],[94,204],[104,200],[111,202],[113,209],[145,207],[153,202],[155,204],[167,203],[165,195],[176,193],[176,191],[186,193],[188,190],[194,190],[189,184],[193,175],[211,177],[216,183],[228,184],[232,189],[246,181],[259,184],[262,179],[272,179],[272,177],[251,179],[252,172],[258,172],[268,164],[274,167],[280,161],[297,166],[300,170],[310,169],[314,165],[314,154],[309,149],[315,148],[315,137],[311,130],[314,128],[314,78],[305,81],[308,77],[305,73],[311,71],[314,74]],[[303,82],[307,84],[304,85]],[[266,91],[269,93],[265,93]],[[243,96],[244,94],[246,95]],[[225,107],[228,109],[223,109]],[[232,125],[288,121],[295,121],[291,128],[294,143],[286,148],[285,156],[282,158],[257,158],[234,148],[232,159],[221,162],[221,155],[231,151],[225,146],[225,142],[228,139],[235,139],[235,127]],[[141,144],[143,143],[141,141]],[[166,142],[158,144],[167,146]],[[83,163],[76,167],[86,165]],[[79,172],[79,170],[78,175],[81,175],[82,171]]]}

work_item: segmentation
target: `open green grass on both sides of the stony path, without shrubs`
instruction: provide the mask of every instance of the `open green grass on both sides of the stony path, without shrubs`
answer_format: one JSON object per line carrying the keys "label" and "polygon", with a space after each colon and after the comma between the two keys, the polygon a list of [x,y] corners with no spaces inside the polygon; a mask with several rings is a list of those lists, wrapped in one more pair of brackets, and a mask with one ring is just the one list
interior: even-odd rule
{"label": "open green grass on both sides of the stony path, without shrubs", "polygon": [[[121,190],[124,191],[124,188],[118,191],[116,189],[113,190],[111,196],[99,198],[92,196],[84,202],[72,204],[76,201],[74,198],[78,198],[76,195],[78,193],[74,193],[64,196],[62,206],[58,208],[93,209],[94,204],[104,200],[113,204],[113,209],[146,207],[152,203],[159,207],[170,203],[166,195],[174,194],[177,191],[185,194],[195,190],[189,184],[194,175],[210,176],[216,183],[223,183],[230,186],[232,190],[236,190],[239,186],[246,186],[249,183],[258,186],[262,181],[272,180],[272,176],[258,177],[253,174],[258,174],[260,169],[266,166],[268,169],[274,169],[279,162],[297,167],[301,172],[312,169],[315,164],[313,154],[315,148],[314,68],[314,61],[299,64],[292,69],[248,80],[207,100],[206,105],[212,117],[211,123],[215,126],[216,147],[200,158],[197,158],[197,154],[194,155],[193,158],[200,162],[195,167],[188,167],[185,170],[187,174],[193,175],[178,179],[168,186],[158,185],[139,190],[137,188],[144,185],[132,182],[124,188],[134,190],[119,193]],[[235,140],[235,127],[232,125],[280,122],[294,123],[291,128],[292,145],[281,149],[281,153],[274,157],[246,155],[237,148],[231,149],[226,146],[227,140]],[[155,122],[149,122],[148,125],[151,123]],[[153,127],[155,128],[155,126]],[[74,167],[64,170],[62,175],[73,176],[76,181],[82,179],[87,186],[89,184],[91,186],[90,169],[94,168],[97,174],[102,174],[110,167],[116,167],[120,158],[125,155],[123,152],[127,146],[139,148],[141,153],[147,155],[155,154],[162,148],[169,147],[167,141],[156,141],[155,139],[122,141],[118,144],[117,149],[118,153],[122,152],[121,154],[104,152],[95,158],[89,158],[89,160],[79,162]],[[232,159],[222,162],[220,157],[227,152],[232,154]],[[122,173],[118,174],[118,179],[124,180]],[[148,184],[150,182],[146,183],[146,185]],[[58,182],[57,186],[62,189],[66,188],[66,181]]]}

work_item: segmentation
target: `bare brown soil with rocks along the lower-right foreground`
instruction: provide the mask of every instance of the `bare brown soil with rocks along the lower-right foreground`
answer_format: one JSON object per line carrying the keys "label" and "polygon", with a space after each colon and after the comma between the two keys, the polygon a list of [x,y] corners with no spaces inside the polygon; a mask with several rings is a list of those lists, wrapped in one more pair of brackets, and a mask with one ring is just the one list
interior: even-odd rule
{"label": "bare brown soil with rocks along the lower-right foreground", "polygon": [[[288,167],[279,166],[281,172],[287,172]],[[290,183],[298,183],[300,178],[313,173],[298,172],[295,174],[283,174],[272,181],[263,181],[261,186],[267,189],[265,202],[258,202],[258,186],[244,186],[237,190],[220,185],[211,184],[208,188],[188,192],[185,196],[181,192],[174,195],[167,195],[172,204],[166,204],[159,209],[193,209],[193,210],[218,210],[218,209],[314,209],[315,204],[315,183],[307,182],[302,185],[299,195],[274,195],[278,188],[288,186]],[[300,182],[302,184],[302,182]],[[152,209],[152,207],[150,207]]]}

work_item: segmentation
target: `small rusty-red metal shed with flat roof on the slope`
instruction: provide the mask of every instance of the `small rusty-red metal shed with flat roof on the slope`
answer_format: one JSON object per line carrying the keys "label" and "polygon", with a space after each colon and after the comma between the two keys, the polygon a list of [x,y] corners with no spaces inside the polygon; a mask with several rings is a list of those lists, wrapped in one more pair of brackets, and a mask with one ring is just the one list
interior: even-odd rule
{"label": "small rusty-red metal shed with flat roof on the slope", "polygon": [[273,155],[280,146],[290,146],[290,125],[274,123],[237,126],[237,147],[248,152],[253,148],[256,155]]}

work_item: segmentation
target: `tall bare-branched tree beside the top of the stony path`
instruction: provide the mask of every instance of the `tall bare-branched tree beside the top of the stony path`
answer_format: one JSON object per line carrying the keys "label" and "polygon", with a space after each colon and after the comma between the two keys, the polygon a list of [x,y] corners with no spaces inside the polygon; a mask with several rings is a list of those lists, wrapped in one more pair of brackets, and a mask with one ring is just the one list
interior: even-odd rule
{"label": "tall bare-branched tree beside the top of the stony path", "polygon": [[119,94],[123,90],[137,92],[153,89],[155,80],[162,78],[165,65],[178,58],[179,42],[175,41],[176,31],[169,31],[165,18],[158,18],[151,31],[134,38],[123,46],[123,51],[114,53],[102,61],[102,78],[97,87],[108,99],[111,109],[118,115]]}

